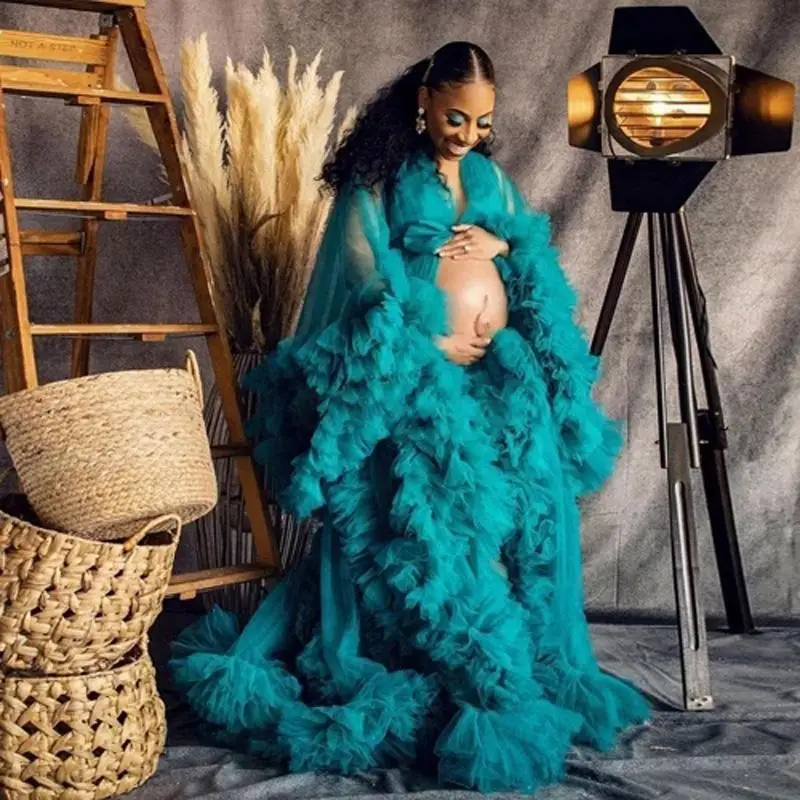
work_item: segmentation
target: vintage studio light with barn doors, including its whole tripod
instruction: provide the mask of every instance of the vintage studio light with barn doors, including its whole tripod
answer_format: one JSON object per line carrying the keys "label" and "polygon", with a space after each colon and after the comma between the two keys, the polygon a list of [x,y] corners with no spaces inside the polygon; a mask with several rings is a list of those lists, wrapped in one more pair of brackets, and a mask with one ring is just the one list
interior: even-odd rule
{"label": "vintage studio light with barn doors, including its whole tripod", "polygon": [[[684,706],[713,707],[699,593],[691,470],[700,468],[728,624],[753,619],[734,523],[725,425],[706,298],[684,204],[718,161],[791,146],[795,91],[788,81],[725,55],[685,6],[617,8],[609,53],[570,79],[569,143],[606,158],[611,207],[628,212],[591,350],[600,355],[643,220],[647,220],[659,452],[667,470]],[[664,298],[664,300],[662,300]],[[662,306],[666,306],[666,319]],[[664,357],[672,339],[679,421],[670,420]],[[705,404],[698,406],[693,360]]]}

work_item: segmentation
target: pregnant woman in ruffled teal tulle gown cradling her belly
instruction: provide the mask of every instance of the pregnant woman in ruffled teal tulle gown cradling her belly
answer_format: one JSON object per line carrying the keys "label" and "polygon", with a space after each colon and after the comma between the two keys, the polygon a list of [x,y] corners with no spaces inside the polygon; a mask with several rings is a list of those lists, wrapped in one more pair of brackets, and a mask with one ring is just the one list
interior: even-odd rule
{"label": "pregnant woman in ruffled teal tulle gown cradling her belly", "polygon": [[577,501],[620,437],[548,218],[489,157],[494,101],[465,42],[379,92],[325,167],[296,334],[249,378],[256,455],[320,531],[172,669],[209,730],[292,771],[532,792],[649,714],[583,612]]}

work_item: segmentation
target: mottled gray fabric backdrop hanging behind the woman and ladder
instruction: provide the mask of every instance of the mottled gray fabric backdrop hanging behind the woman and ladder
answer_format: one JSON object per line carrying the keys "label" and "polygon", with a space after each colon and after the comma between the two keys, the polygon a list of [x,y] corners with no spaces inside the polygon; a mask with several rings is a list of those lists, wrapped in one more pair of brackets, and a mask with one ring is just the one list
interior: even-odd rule
{"label": "mottled gray fabric backdrop hanging behind the woman and ladder", "polygon": [[[151,0],[149,15],[176,84],[178,50],[207,31],[215,64],[255,66],[267,45],[283,70],[289,45],[301,62],[324,49],[323,73],[346,71],[343,107],[450,39],[483,45],[496,62],[499,160],[531,201],[554,217],[563,264],[597,318],[624,216],[611,212],[605,167],[568,147],[567,77],[605,52],[611,0]],[[800,78],[797,0],[698,0],[691,4],[722,49],[789,80]],[[91,15],[3,6],[0,26],[88,33]],[[123,73],[124,74],[124,73]],[[57,101],[9,101],[20,195],[74,197],[78,113]],[[788,154],[719,165],[688,209],[730,425],[734,503],[757,619],[800,614],[797,541],[800,433],[800,158]],[[158,167],[117,114],[107,168],[110,199],[159,194]],[[29,225],[31,223],[28,223]],[[48,220],[48,225],[54,223]],[[37,223],[38,226],[38,223]],[[102,320],[188,319],[193,303],[177,239],[167,224],[107,225],[101,238],[96,315]],[[624,419],[628,446],[605,490],[586,503],[587,605],[591,611],[670,615],[673,608],[665,473],[658,466],[650,311],[644,248],[637,248],[605,358],[600,387]],[[32,260],[37,321],[68,318],[69,261]],[[178,363],[183,343],[100,343],[94,371]],[[46,379],[66,376],[67,349],[39,349]],[[699,475],[698,481],[699,483]],[[697,487],[695,487],[697,488]],[[696,494],[707,609],[721,611],[702,496]]]}

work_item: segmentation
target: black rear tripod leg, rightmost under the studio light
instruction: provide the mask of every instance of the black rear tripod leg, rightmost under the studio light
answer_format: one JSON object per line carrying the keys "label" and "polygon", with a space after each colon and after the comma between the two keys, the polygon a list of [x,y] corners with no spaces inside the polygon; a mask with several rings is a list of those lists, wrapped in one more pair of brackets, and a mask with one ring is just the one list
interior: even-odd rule
{"label": "black rear tripod leg, rightmost under the studio light", "polygon": [[722,414],[719,385],[708,334],[705,301],[697,277],[686,215],[681,210],[676,217],[681,266],[692,312],[697,350],[703,374],[708,409],[698,411],[700,433],[700,468],[703,475],[711,536],[717,560],[717,571],[725,604],[725,614],[731,633],[753,633],[755,626],[747,596],[739,540],[731,502],[725,450],[728,446]]}

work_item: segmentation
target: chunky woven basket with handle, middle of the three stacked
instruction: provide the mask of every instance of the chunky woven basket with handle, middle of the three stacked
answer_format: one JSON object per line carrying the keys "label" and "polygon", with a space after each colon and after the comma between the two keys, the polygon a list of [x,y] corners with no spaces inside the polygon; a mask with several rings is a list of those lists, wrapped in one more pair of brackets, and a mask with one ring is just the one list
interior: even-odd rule
{"label": "chunky woven basket with handle, middle of the three stacked", "polygon": [[175,515],[156,518],[118,544],[0,511],[0,671],[65,675],[117,663],[161,611],[180,528]]}

